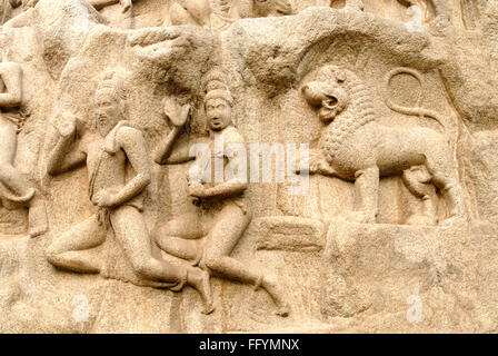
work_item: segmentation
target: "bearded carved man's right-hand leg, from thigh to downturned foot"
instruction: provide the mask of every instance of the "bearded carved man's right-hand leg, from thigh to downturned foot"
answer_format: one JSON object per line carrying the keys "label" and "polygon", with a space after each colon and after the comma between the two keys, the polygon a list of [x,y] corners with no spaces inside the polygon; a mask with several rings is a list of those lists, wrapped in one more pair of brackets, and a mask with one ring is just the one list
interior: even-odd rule
{"label": "bearded carved man's right-hand leg, from thigh to downturned foot", "polygon": [[212,312],[209,275],[199,268],[153,258],[151,239],[140,211],[130,206],[119,207],[111,212],[111,224],[116,239],[140,278],[171,284],[172,290],[180,290],[188,283],[203,299],[205,313]]}

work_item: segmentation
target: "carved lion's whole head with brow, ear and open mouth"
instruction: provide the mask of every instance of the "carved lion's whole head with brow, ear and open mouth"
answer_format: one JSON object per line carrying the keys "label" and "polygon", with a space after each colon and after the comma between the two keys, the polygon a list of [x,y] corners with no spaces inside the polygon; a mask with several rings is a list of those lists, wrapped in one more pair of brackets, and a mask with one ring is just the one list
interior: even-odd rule
{"label": "carved lion's whole head with brow, ear and open mouth", "polygon": [[329,123],[349,105],[347,73],[335,66],[326,66],[317,77],[302,86],[301,91],[308,103],[318,109],[320,120]]}

